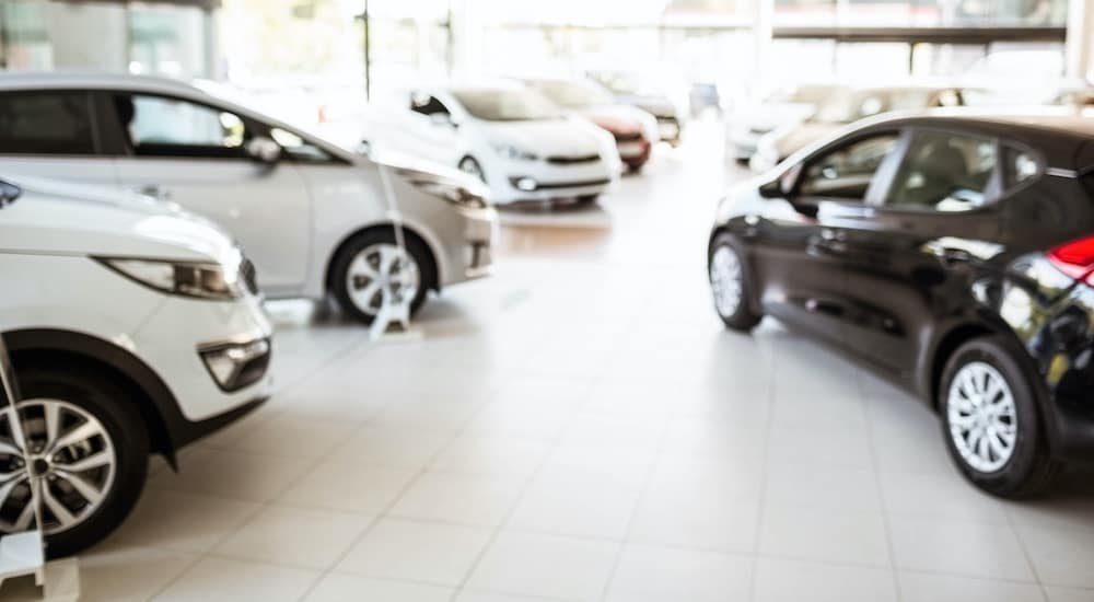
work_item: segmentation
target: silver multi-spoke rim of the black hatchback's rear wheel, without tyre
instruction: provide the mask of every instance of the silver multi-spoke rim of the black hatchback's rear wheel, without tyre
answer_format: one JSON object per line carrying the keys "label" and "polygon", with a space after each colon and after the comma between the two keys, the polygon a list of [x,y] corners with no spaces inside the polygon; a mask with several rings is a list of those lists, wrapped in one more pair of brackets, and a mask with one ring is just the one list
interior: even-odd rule
{"label": "silver multi-spoke rim of the black hatchback's rear wheel, without tyre", "polygon": [[947,395],[950,435],[962,460],[981,473],[1005,466],[1019,428],[1006,379],[989,363],[969,362],[954,374]]}

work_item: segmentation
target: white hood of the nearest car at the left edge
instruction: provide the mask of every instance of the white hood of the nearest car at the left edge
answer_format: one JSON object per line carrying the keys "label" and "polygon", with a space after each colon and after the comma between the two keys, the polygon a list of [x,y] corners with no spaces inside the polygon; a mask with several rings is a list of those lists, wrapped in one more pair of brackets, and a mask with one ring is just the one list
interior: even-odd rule
{"label": "white hood of the nearest car at the left edge", "polygon": [[0,253],[228,262],[232,238],[212,222],[136,194],[3,177],[23,193],[0,209]]}

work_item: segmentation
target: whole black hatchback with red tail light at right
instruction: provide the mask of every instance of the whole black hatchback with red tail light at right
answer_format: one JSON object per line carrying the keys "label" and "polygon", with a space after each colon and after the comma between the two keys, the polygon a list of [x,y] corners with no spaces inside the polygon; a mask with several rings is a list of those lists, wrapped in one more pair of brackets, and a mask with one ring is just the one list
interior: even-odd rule
{"label": "whole black hatchback with red tail light at right", "polygon": [[873,120],[724,199],[708,266],[726,326],[776,316],[911,387],[986,491],[1094,458],[1090,119]]}

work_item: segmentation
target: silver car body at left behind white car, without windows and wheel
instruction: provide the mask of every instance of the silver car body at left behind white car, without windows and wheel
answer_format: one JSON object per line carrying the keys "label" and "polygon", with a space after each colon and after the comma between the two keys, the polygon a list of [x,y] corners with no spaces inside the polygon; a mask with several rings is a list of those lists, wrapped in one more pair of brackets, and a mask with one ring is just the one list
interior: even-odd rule
{"label": "silver car body at left behind white car, without windows and wheel", "polygon": [[[240,241],[255,262],[259,283],[270,298],[324,298],[339,250],[369,229],[391,229],[393,205],[409,235],[420,239],[432,255],[437,281],[427,282],[429,288],[440,290],[489,273],[497,212],[488,202],[461,205],[411,182],[411,175],[418,174],[442,180],[461,190],[482,189],[456,170],[381,164],[177,81],[97,73],[0,76],[0,104],[9,95],[62,91],[86,93],[94,99],[92,104],[107,105],[94,113],[97,119],[106,119],[96,123],[101,131],[110,129],[109,118],[104,115],[110,109],[112,99],[142,96],[177,102],[183,108],[208,107],[221,119],[230,114],[245,121],[248,129],[254,124],[271,134],[280,132],[282,141],[299,141],[298,148],[303,151],[319,153],[316,160],[287,155],[277,163],[234,154],[137,155],[109,134],[100,135],[94,152],[0,150],[0,173],[137,190],[216,221]],[[171,135],[173,128],[183,129],[186,124],[163,115],[138,126]],[[287,144],[281,143],[289,148]]]}

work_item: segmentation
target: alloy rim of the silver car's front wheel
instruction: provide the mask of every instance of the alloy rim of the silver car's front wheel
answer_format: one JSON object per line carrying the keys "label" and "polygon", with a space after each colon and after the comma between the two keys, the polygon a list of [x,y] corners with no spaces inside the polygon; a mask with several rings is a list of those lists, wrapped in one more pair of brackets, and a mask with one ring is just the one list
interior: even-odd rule
{"label": "alloy rim of the silver car's front wheel", "polygon": [[376,315],[384,305],[411,302],[421,286],[421,271],[405,250],[377,243],[353,257],[346,279],[353,304],[368,315]]}

